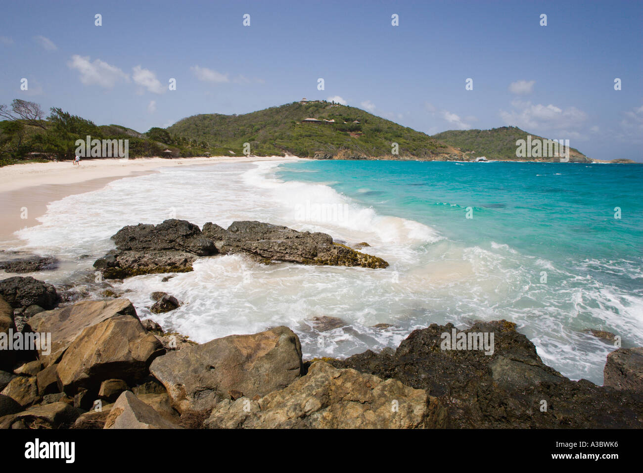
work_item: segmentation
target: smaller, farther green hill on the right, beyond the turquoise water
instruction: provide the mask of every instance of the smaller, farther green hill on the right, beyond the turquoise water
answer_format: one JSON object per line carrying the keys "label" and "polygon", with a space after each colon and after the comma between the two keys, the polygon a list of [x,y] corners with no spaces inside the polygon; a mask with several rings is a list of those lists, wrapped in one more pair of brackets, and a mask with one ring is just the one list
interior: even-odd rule
{"label": "smaller, farther green hill on the right, beyond the turquoise water", "polygon": [[[485,156],[487,160],[507,161],[559,161],[559,158],[518,158],[516,157],[516,141],[527,140],[527,135],[532,140],[545,138],[533,133],[521,130],[518,127],[500,127],[490,130],[449,130],[434,134],[433,138],[440,140],[453,147],[457,147],[464,153],[469,153],[469,159]],[[577,149],[570,148],[570,162],[591,163],[592,159],[585,156]]]}

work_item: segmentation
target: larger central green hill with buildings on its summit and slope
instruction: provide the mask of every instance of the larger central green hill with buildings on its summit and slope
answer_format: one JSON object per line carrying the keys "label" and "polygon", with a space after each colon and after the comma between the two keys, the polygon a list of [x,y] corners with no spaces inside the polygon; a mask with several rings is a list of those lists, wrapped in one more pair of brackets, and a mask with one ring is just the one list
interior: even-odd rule
{"label": "larger central green hill with buildings on its summit and slope", "polygon": [[[310,118],[317,121],[306,121]],[[198,142],[214,155],[243,154],[245,143],[258,156],[455,159],[462,155],[427,134],[356,107],[325,101],[293,102],[244,115],[194,115],[167,131]],[[397,155],[392,154],[393,143],[399,145]]]}

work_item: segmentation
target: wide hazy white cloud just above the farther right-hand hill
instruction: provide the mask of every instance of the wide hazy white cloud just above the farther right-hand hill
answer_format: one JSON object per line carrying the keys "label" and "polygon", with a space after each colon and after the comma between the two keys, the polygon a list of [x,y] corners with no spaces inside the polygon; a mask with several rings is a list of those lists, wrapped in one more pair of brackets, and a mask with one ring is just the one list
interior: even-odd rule
{"label": "wide hazy white cloud just above the farther right-hand hill", "polygon": [[511,105],[514,110],[501,110],[501,118],[507,125],[527,128],[528,131],[573,131],[579,129],[587,118],[586,114],[576,107],[562,109],[553,104],[545,106],[521,100],[512,100]]}

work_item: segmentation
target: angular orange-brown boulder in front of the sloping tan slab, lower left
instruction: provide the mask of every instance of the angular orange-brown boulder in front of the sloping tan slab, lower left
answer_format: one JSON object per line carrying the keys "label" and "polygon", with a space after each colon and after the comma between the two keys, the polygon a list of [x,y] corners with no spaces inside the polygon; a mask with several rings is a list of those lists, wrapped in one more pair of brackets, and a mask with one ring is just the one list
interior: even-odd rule
{"label": "angular orange-brown boulder in front of the sloping tan slab, lower left", "polygon": [[161,353],[161,342],[138,319],[111,317],[84,329],[69,345],[57,368],[59,387],[66,393],[78,388],[95,392],[112,378],[129,384],[147,376],[150,363]]}

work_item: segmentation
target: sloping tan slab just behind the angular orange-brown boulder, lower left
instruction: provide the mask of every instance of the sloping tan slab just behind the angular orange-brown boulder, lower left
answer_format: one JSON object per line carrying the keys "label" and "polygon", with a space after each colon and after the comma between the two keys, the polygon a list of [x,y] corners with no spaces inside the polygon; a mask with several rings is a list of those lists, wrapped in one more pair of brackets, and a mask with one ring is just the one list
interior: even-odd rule
{"label": "sloping tan slab just behind the angular orange-brown boulder, lower left", "polygon": [[50,366],[60,360],[69,344],[76,340],[84,329],[121,315],[138,320],[136,309],[127,299],[82,301],[73,306],[34,315],[29,319],[25,330],[34,333],[51,333],[50,353],[46,355],[39,351],[42,364]]}

